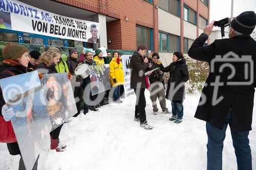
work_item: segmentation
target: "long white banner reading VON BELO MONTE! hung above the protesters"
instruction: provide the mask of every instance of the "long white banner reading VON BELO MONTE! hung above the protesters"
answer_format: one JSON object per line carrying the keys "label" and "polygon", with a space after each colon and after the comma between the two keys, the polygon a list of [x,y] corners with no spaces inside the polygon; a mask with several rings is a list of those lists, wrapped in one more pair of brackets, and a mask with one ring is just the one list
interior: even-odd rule
{"label": "long white banner reading VON BELO MONTE! hung above the protesters", "polygon": [[61,16],[16,0],[0,0],[0,28],[98,43],[100,24]]}

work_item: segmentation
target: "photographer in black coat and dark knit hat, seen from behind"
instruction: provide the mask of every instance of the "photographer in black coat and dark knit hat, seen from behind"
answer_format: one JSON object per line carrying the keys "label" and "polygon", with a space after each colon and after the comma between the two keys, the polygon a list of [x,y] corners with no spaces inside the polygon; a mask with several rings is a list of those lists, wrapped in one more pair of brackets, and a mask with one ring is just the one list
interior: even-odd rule
{"label": "photographer in black coat and dark knit hat, seen from behind", "polygon": [[[256,81],[256,42],[250,34],[256,25],[256,14],[253,11],[241,13],[232,20],[228,39],[215,40],[203,46],[213,25],[214,21],[206,26],[188,51],[191,58],[206,61],[210,65],[210,73],[195,115],[207,122],[207,169],[222,169],[223,141],[228,124],[238,169],[252,169],[248,135]],[[246,60],[252,60],[250,64],[253,63],[253,70]],[[248,75],[247,71],[252,72]],[[254,81],[246,80],[247,76],[254,77]]]}

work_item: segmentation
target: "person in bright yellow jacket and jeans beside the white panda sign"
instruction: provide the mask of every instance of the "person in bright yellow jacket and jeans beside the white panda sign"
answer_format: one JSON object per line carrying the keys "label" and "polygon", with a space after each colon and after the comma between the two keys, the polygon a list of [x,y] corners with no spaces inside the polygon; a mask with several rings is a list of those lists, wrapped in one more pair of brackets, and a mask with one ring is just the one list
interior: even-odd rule
{"label": "person in bright yellow jacket and jeans beside the white panda sign", "polygon": [[118,52],[113,53],[113,58],[110,62],[110,80],[114,90],[114,101],[120,101],[120,86],[124,83],[123,66],[121,58],[118,57]]}

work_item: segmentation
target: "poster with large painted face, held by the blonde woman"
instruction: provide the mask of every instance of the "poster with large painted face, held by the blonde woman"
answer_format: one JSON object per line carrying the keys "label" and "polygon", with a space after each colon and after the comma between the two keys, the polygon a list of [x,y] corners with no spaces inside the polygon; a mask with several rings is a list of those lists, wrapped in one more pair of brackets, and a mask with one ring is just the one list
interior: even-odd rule
{"label": "poster with large painted face, held by the blonde woman", "polygon": [[77,113],[71,83],[67,72],[42,75],[40,82],[54,130]]}

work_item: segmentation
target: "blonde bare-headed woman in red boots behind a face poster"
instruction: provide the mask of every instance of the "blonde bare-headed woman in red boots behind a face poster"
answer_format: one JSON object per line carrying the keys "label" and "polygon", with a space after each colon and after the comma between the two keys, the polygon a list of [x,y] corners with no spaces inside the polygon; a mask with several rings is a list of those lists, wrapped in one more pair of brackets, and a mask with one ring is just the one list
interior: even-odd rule
{"label": "blonde bare-headed woman in red boots behind a face poster", "polygon": [[[58,48],[56,47],[49,48],[45,53],[43,53],[39,57],[39,60],[38,60],[39,64],[36,66],[36,70],[38,70],[38,72],[41,72],[41,74],[57,73],[55,66],[59,62],[60,56],[61,56],[61,53],[58,50]],[[48,111],[49,109],[50,108],[48,107]],[[59,134],[62,126],[63,124],[61,124],[59,127],[57,127],[56,129],[50,132],[51,150],[56,150],[56,152],[62,152],[66,148],[66,145],[61,144],[59,140]]]}

